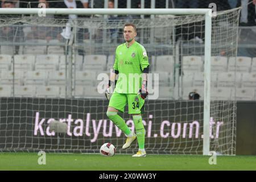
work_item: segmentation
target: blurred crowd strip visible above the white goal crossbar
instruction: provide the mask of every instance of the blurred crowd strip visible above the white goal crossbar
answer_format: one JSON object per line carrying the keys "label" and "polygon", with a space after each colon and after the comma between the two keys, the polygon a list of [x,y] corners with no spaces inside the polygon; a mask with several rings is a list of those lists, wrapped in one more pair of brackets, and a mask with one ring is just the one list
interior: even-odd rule
{"label": "blurred crowd strip visible above the white goal crossbar", "polygon": [[[110,0],[114,3],[114,0]],[[104,8],[104,0],[2,0],[1,7],[36,8],[39,3],[45,3],[47,8]],[[93,4],[92,4],[93,3]],[[144,8],[150,8],[151,1],[144,1]],[[240,26],[256,26],[256,0],[169,0],[169,8],[208,8],[210,3],[216,3],[217,11],[233,9],[242,6]],[[113,5],[114,7],[114,5]],[[118,8],[126,8],[126,1],[118,0]],[[131,1],[131,8],[140,8],[141,0]],[[109,7],[111,8],[111,7]],[[166,0],[155,1],[155,8],[166,8]],[[70,18],[70,17],[69,17]]]}

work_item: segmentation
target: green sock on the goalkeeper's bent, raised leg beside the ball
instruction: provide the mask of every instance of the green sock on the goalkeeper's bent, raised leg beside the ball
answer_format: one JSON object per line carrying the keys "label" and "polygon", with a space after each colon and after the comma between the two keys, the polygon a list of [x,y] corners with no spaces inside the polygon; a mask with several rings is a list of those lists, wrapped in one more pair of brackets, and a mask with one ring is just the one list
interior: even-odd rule
{"label": "green sock on the goalkeeper's bent, raised leg beside the ball", "polygon": [[106,113],[109,117],[109,119],[111,121],[114,122],[115,125],[117,125],[117,127],[123,131],[123,133],[125,133],[126,135],[130,135],[131,134],[131,130],[129,129],[129,127],[126,125],[125,121],[123,121],[123,118],[121,118],[117,112],[114,111],[107,111]]}

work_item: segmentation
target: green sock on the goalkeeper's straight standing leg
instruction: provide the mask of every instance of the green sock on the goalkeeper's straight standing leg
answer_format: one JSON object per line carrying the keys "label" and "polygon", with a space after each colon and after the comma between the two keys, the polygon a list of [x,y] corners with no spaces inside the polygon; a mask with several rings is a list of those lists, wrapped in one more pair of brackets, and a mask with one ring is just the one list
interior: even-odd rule
{"label": "green sock on the goalkeeper's straight standing leg", "polygon": [[139,144],[139,149],[144,149],[144,143],[145,143],[145,129],[142,123],[142,117],[141,115],[133,115],[133,122],[135,125],[137,140]]}

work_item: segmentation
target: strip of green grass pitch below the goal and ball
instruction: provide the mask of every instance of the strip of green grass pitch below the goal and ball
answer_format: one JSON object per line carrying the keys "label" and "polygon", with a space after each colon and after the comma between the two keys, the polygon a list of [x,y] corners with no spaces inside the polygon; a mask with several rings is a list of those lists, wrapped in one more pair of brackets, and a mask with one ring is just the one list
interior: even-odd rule
{"label": "strip of green grass pitch below the goal and ball", "polygon": [[37,153],[0,153],[0,170],[256,170],[256,156],[217,156],[217,164],[209,164],[210,156],[147,155],[133,158],[116,154],[46,154],[46,165],[38,164]]}

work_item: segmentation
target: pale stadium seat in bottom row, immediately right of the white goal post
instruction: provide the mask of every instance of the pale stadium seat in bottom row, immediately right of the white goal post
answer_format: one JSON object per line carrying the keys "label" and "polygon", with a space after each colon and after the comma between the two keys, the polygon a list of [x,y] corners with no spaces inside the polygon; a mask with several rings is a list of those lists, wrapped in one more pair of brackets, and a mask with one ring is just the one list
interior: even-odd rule
{"label": "pale stadium seat in bottom row, immediately right of the white goal post", "polygon": [[210,89],[210,100],[234,100],[234,89],[218,87]]}

